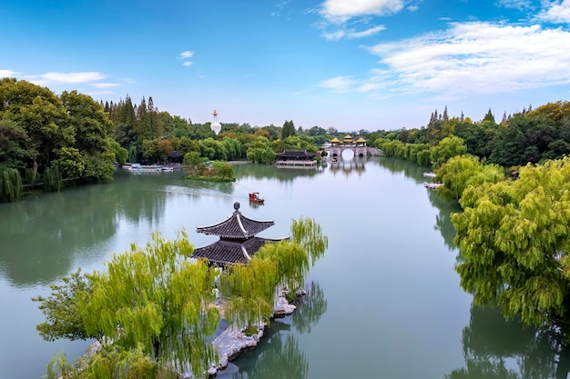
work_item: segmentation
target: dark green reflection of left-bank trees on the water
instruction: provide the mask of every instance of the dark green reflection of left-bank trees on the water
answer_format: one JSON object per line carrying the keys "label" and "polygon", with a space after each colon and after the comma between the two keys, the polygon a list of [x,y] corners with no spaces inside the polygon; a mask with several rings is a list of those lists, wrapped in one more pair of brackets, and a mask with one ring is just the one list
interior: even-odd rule
{"label": "dark green reflection of left-bank trees on the water", "polygon": [[76,254],[115,233],[117,197],[110,185],[91,185],[0,204],[2,276],[25,287],[67,274]]}

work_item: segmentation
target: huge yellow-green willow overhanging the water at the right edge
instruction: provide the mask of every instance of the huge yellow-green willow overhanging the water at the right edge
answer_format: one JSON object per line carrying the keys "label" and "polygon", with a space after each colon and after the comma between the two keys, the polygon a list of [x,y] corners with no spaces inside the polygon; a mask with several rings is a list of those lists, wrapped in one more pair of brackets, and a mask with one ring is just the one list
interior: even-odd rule
{"label": "huge yellow-green willow overhanging the water at the right edge", "polygon": [[520,178],[465,189],[453,214],[463,262],[456,269],[475,304],[555,327],[570,323],[570,158],[526,165]]}

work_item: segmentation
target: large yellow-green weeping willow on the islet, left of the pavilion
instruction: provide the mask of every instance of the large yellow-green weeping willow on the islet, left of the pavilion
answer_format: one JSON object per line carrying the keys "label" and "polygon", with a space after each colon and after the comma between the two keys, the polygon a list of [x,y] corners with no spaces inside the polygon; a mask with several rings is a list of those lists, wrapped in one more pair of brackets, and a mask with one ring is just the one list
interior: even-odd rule
{"label": "large yellow-green weeping willow on the islet, left of the pavilion", "polygon": [[219,311],[213,306],[213,276],[208,264],[187,260],[193,247],[184,231],[174,241],[158,232],[146,247],[132,244],[115,254],[106,272],[90,275],[92,289],[78,302],[87,334],[103,334],[104,350],[142,353],[179,370],[191,364],[202,374],[215,360],[207,338],[215,333]]}

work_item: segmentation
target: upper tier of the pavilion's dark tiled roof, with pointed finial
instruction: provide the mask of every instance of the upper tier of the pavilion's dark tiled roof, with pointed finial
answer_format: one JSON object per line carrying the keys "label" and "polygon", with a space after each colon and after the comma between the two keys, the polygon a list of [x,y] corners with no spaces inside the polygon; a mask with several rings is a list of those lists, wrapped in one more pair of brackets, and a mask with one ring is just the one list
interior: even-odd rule
{"label": "upper tier of the pavilion's dark tiled roof, with pointed finial", "polygon": [[221,238],[248,239],[273,226],[273,221],[252,220],[239,212],[239,203],[234,204],[236,210],[228,219],[219,224],[198,226],[196,231],[203,234],[218,235]]}

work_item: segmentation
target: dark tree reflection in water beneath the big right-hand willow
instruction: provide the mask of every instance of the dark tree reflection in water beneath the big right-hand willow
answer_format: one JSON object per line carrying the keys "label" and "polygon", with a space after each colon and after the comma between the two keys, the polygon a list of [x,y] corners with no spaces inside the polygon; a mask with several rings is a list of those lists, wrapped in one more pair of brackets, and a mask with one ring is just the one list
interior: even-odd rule
{"label": "dark tree reflection in water beneath the big right-hand willow", "polygon": [[472,304],[462,343],[465,367],[446,379],[558,379],[570,368],[555,334],[504,319],[495,307]]}

